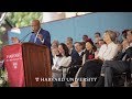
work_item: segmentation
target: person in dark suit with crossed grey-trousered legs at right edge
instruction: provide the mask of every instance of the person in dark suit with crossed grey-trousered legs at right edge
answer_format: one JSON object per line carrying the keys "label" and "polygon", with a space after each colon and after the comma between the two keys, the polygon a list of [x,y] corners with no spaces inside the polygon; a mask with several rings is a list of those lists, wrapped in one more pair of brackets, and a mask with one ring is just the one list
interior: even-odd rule
{"label": "person in dark suit with crossed grey-trousered legs at right edge", "polygon": [[[122,50],[119,46],[119,54],[113,61],[106,61],[101,67],[100,79],[97,87],[112,87],[116,75],[132,72],[132,30],[128,31],[122,42]],[[131,81],[131,80],[130,80]]]}

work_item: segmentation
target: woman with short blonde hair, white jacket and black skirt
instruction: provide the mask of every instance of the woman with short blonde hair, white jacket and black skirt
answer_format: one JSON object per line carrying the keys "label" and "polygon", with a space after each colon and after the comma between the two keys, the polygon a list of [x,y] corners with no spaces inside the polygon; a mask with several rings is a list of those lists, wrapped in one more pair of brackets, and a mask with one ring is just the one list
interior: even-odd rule
{"label": "woman with short blonde hair, white jacket and black skirt", "polygon": [[[100,47],[96,58],[88,61],[82,65],[78,74],[78,78],[92,78],[99,76],[103,62],[112,59],[117,54],[118,45],[114,44],[114,38],[116,34],[113,31],[105,32],[103,41],[106,42],[106,44]],[[94,87],[95,84],[95,81],[87,81],[86,85],[82,86]],[[74,82],[72,86],[74,85],[76,86],[78,85],[78,82]]]}

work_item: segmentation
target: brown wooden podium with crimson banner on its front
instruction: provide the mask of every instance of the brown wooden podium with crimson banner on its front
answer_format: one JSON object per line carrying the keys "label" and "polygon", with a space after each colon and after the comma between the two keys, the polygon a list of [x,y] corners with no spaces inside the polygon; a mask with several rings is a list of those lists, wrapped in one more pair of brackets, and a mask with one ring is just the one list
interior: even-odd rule
{"label": "brown wooden podium with crimson banner on its front", "polygon": [[3,46],[10,87],[52,87],[50,50],[34,43]]}

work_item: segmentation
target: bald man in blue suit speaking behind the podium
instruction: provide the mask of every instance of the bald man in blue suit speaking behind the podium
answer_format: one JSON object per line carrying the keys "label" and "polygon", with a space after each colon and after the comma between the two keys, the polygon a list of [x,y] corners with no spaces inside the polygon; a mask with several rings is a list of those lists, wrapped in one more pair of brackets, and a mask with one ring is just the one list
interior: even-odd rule
{"label": "bald man in blue suit speaking behind the podium", "polygon": [[48,31],[41,28],[38,20],[32,21],[32,35],[29,42],[36,43],[38,45],[46,45],[51,50],[51,34]]}

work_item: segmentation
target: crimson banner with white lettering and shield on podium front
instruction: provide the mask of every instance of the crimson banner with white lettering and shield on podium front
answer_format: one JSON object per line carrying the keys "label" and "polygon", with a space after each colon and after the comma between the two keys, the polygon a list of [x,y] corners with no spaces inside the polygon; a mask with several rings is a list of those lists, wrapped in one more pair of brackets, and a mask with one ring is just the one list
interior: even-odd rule
{"label": "crimson banner with white lettering and shield on podium front", "polygon": [[21,44],[3,47],[4,66],[10,87],[24,87],[24,70]]}

